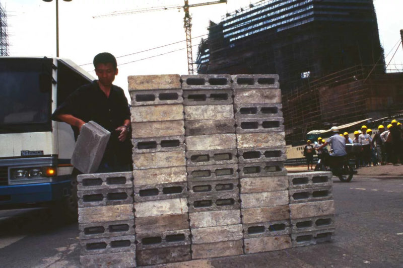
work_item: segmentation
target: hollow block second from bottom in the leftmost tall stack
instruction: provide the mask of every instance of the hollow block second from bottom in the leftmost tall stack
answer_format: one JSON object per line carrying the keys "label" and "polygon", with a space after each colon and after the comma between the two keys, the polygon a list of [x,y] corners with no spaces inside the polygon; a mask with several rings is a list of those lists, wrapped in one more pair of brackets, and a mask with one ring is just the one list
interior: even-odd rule
{"label": "hollow block second from bottom in the leftmost tall stack", "polygon": [[136,239],[137,250],[190,245],[190,230],[143,233],[137,234]]}

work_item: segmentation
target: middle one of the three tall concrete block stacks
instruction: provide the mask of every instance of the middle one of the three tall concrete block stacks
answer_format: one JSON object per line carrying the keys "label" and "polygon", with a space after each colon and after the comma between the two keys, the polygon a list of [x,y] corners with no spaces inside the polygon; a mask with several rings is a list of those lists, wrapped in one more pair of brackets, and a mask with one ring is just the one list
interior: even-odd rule
{"label": "middle one of the three tall concrete block stacks", "polygon": [[182,75],[192,258],[243,253],[230,75]]}

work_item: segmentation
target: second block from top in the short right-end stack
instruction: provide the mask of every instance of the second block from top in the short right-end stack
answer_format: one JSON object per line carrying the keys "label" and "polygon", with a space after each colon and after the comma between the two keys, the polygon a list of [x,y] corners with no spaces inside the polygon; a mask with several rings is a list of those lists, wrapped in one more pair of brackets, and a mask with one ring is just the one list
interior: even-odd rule
{"label": "second block from top in the short right-end stack", "polygon": [[289,190],[290,204],[333,200],[332,187]]}

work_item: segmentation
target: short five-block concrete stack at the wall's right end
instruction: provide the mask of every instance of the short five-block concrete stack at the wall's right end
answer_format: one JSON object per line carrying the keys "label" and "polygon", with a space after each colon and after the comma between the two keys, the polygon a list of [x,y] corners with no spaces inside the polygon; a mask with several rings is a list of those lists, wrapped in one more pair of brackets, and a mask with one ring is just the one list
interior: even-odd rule
{"label": "short five-block concrete stack at the wall's right end", "polygon": [[334,233],[331,172],[288,175],[292,245],[330,241]]}

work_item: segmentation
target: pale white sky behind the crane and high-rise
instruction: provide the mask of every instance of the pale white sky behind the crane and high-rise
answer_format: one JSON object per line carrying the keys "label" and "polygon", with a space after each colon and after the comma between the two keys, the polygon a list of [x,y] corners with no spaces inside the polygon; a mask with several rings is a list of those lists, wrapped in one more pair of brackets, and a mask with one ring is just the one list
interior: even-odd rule
{"label": "pale white sky behind the crane and high-rise", "polygon": [[[56,56],[55,1],[0,0],[8,14],[11,56]],[[210,1],[189,0],[189,4]],[[192,45],[196,45],[193,47],[193,59],[197,55],[199,36],[207,37],[210,20],[218,23],[227,12],[256,2],[258,0],[228,0],[227,4],[190,8]],[[187,74],[182,10],[93,18],[118,11],[167,5],[180,7],[183,6],[182,0],[59,0],[58,4],[59,56],[73,60],[93,76],[93,57],[105,51],[117,57],[119,74],[114,83],[125,91],[128,75]],[[374,0],[374,5],[385,62],[387,64],[396,52],[390,64],[399,65],[402,70],[403,48],[401,45],[397,48],[397,43],[400,40],[399,30],[403,29],[403,1]],[[164,46],[175,42],[179,43]],[[159,46],[164,47],[149,50]],[[136,53],[144,50],[149,51]],[[174,50],[179,51],[167,53]],[[167,54],[156,56],[164,53]],[[142,60],[144,58],[148,59]]]}

